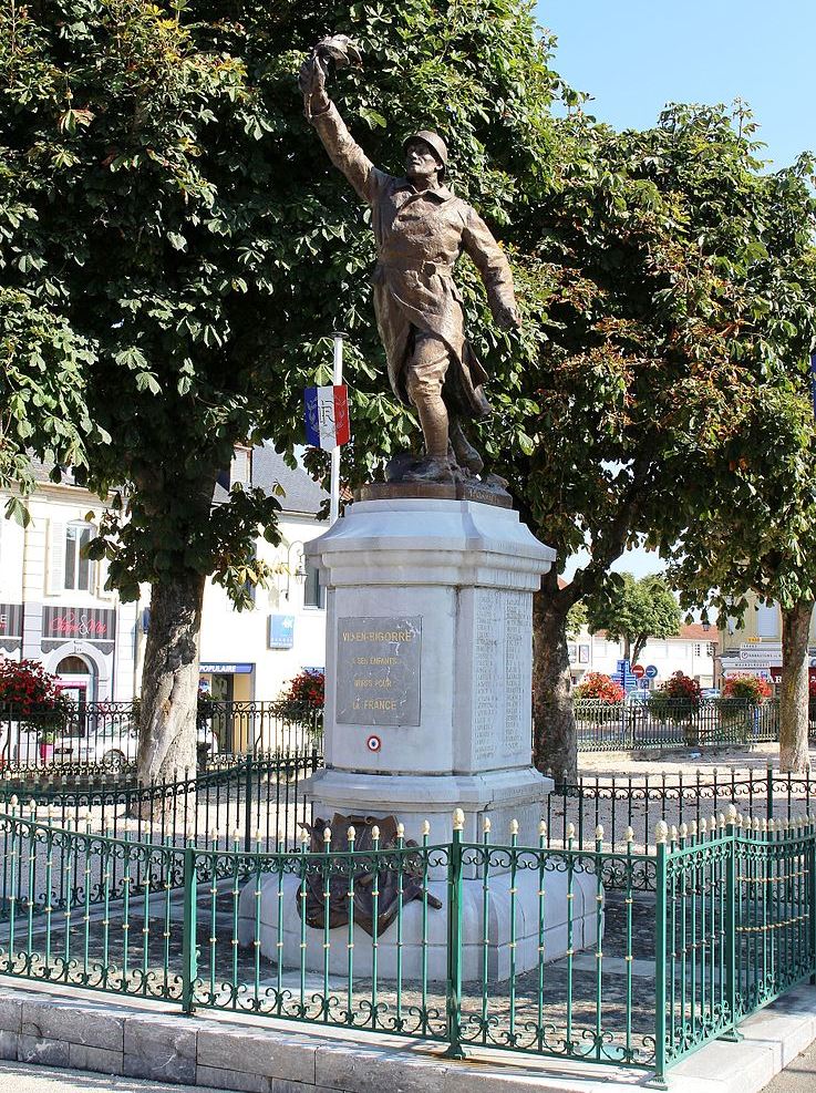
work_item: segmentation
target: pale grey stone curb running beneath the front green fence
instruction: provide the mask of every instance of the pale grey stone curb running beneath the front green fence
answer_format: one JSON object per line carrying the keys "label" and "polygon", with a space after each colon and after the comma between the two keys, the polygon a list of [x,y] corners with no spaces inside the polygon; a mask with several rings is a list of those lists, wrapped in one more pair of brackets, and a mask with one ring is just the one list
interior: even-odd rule
{"label": "pale grey stone curb running beneath the front green fence", "polygon": [[[161,1002],[0,986],[0,1059],[246,1093],[627,1093],[644,1071],[474,1051],[345,1030],[291,1031],[257,1015],[184,1017]],[[302,1027],[300,1027],[302,1028]],[[670,1071],[671,1093],[758,1093],[816,1039],[816,988],[799,987]],[[337,1032],[337,1034],[334,1034]]]}

